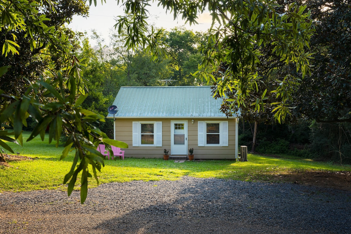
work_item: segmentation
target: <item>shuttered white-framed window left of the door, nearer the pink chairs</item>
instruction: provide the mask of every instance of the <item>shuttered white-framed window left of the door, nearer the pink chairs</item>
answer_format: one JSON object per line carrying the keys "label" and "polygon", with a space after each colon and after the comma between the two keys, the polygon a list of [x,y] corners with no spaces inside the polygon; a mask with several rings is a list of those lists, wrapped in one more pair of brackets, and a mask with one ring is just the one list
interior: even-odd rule
{"label": "shuttered white-framed window left of the door, nearer the pink chairs", "polygon": [[162,146],[162,122],[133,122],[133,146]]}

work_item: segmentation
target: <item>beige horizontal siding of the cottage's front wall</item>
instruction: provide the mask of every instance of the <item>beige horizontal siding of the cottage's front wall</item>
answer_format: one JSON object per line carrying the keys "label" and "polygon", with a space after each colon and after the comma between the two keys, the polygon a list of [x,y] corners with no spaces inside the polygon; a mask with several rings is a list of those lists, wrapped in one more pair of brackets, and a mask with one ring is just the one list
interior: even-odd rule
{"label": "beige horizontal siding of the cottage's front wall", "polygon": [[[194,119],[194,123],[191,120]],[[171,121],[185,120],[188,126],[188,149],[194,148],[195,159],[235,159],[236,158],[236,119],[222,118],[116,118],[115,139],[128,144],[125,157],[133,158],[163,158],[164,149],[171,152]],[[162,147],[133,146],[133,121],[161,121]],[[228,121],[228,146],[198,146],[198,121]]]}

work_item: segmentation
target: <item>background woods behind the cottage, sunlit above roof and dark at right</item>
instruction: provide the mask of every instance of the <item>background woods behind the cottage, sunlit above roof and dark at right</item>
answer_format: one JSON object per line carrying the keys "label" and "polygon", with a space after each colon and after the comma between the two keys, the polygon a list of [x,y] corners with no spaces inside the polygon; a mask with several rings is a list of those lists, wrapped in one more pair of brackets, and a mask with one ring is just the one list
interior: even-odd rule
{"label": "background woods behind the cottage, sunlit above roof and dark at right", "polygon": [[[94,31],[91,40],[97,42],[95,46],[87,36],[81,37],[76,55],[86,65],[83,76],[87,79],[89,96],[82,105],[85,109],[106,116],[107,107],[112,105],[121,86],[164,86],[166,83],[162,80],[169,79],[173,82],[167,82],[168,86],[207,85],[192,75],[201,62],[198,51],[205,34],[182,27],[166,32],[167,54],[153,61],[152,55],[142,48],[126,49],[123,37],[113,32],[109,45]],[[258,121],[263,117],[252,118],[258,115],[253,113],[246,112],[239,120],[239,146],[246,145],[252,152],[261,154],[286,154],[342,164],[351,162],[350,123],[319,123],[307,118],[278,123],[267,116],[264,121]],[[33,130],[35,125],[32,121],[25,129]],[[113,138],[111,119],[99,122],[97,127]]]}

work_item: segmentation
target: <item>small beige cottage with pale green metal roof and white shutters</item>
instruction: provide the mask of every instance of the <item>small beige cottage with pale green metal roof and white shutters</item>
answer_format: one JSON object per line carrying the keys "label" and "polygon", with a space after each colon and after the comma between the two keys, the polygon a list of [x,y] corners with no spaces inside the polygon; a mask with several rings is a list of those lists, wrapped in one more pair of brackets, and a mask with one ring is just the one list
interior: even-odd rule
{"label": "small beige cottage with pale green metal roof and white shutters", "polygon": [[114,139],[124,141],[126,157],[238,158],[238,116],[220,112],[210,86],[121,87],[113,105]]}

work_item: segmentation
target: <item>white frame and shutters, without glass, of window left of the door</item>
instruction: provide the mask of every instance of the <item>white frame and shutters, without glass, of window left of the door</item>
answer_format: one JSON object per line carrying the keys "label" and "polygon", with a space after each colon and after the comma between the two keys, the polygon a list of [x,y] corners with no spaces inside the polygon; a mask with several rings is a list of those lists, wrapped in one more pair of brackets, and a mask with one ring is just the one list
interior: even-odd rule
{"label": "white frame and shutters, without glass, of window left of the door", "polygon": [[[152,145],[141,144],[141,123],[154,125],[154,143]],[[157,146],[162,147],[162,122],[158,121],[133,121],[133,146]]]}

